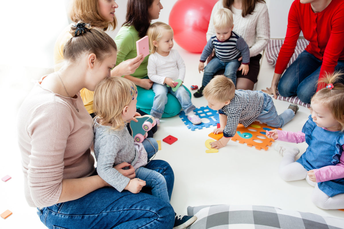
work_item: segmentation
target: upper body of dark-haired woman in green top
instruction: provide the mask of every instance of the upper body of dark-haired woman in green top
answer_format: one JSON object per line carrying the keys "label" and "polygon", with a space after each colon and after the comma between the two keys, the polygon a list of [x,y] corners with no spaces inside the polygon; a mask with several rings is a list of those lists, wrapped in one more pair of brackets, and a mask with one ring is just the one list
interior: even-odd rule
{"label": "upper body of dark-haired woman in green top", "polygon": [[[124,60],[137,56],[136,41],[146,36],[148,27],[153,19],[159,18],[162,9],[160,0],[129,0],[127,5],[126,22],[118,31],[115,42],[120,47],[117,52],[116,65]],[[136,71],[124,76],[136,85],[146,90],[150,89],[153,82],[147,77],[148,56],[144,58]]]}

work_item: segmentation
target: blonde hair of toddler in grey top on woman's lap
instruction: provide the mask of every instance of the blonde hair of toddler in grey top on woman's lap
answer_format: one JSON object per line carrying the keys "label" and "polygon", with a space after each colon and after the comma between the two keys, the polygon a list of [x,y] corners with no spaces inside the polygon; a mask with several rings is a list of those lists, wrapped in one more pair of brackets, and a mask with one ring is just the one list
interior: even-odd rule
{"label": "blonde hair of toddler in grey top on woman's lap", "polygon": [[[135,90],[133,90],[134,88]],[[114,130],[121,130],[127,121],[122,118],[125,106],[130,106],[136,85],[122,77],[110,77],[97,83],[93,96],[93,109],[100,125],[110,124]]]}

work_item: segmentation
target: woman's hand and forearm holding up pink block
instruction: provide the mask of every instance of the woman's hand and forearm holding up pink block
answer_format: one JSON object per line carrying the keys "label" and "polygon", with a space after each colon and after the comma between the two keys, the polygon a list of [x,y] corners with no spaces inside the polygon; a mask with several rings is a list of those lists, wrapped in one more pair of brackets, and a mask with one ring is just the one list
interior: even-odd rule
{"label": "woman's hand and forearm holding up pink block", "polygon": [[114,69],[111,70],[111,76],[125,76],[130,75],[136,71],[136,69],[140,66],[142,61],[144,60],[143,54],[138,55],[133,59],[128,59],[119,63]]}

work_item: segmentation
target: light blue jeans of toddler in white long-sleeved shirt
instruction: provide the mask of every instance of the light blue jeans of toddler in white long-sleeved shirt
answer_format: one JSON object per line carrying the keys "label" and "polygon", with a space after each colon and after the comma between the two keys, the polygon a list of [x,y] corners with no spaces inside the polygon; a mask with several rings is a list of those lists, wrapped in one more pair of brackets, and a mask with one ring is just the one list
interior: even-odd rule
{"label": "light blue jeans of toddler in white long-sleeved shirt", "polygon": [[179,87],[175,92],[172,91],[171,87],[168,88],[166,84],[162,85],[159,83],[153,83],[152,88],[155,96],[150,115],[155,118],[161,118],[162,114],[164,113],[165,105],[167,103],[167,93],[171,93],[178,99],[185,114],[196,109],[196,107],[192,105],[189,92],[186,91],[185,88],[182,86]]}

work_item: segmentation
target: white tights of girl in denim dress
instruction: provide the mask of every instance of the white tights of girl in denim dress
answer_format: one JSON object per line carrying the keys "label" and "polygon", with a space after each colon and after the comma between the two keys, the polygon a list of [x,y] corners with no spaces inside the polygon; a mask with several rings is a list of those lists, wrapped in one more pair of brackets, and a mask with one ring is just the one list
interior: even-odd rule
{"label": "white tights of girl in denim dress", "polygon": [[284,157],[281,160],[279,167],[279,175],[285,181],[297,181],[306,179],[306,181],[314,186],[312,193],[312,202],[322,209],[343,209],[344,208],[344,193],[337,194],[333,197],[326,195],[318,187],[318,183],[309,180],[307,170],[298,162],[295,162],[293,153],[284,152]]}

